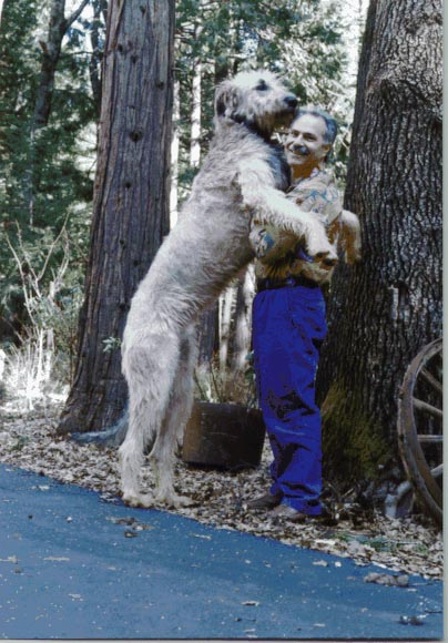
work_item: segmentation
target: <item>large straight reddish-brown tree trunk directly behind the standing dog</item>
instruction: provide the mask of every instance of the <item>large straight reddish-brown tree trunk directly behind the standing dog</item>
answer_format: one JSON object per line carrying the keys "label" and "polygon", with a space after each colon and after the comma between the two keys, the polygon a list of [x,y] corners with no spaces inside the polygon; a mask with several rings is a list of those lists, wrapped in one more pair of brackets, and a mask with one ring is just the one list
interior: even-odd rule
{"label": "large straight reddish-brown tree trunk directly behind the standing dog", "polygon": [[174,0],[110,4],[85,302],[62,432],[113,425],[125,405],[118,346],[169,232],[173,37]]}

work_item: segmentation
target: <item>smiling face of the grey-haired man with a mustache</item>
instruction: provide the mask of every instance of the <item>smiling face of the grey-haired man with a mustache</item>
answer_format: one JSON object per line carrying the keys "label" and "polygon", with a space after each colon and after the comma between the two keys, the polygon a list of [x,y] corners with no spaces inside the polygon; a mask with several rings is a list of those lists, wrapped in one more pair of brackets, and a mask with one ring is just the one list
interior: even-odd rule
{"label": "smiling face of the grey-haired man with a mustache", "polygon": [[293,177],[307,176],[323,159],[330,145],[325,142],[326,124],[320,116],[303,114],[289,127],[285,141],[286,160]]}

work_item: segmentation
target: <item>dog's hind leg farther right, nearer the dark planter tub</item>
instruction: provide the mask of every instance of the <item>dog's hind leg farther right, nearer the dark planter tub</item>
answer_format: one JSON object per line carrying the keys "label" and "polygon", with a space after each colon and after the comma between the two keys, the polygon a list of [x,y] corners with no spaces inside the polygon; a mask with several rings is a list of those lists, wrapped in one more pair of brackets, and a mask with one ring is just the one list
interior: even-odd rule
{"label": "dog's hind leg farther right, nearer the dark planter tub", "polygon": [[189,498],[174,491],[173,478],[176,445],[183,437],[193,407],[193,371],[196,360],[196,329],[190,327],[182,339],[181,358],[166,416],[151,451],[151,461],[157,479],[155,500],[176,508],[191,504]]}

